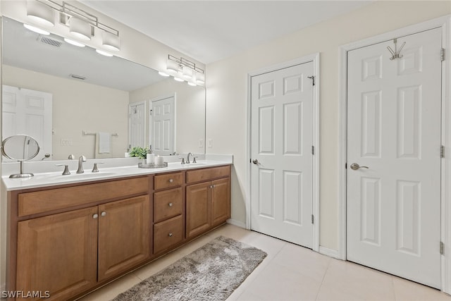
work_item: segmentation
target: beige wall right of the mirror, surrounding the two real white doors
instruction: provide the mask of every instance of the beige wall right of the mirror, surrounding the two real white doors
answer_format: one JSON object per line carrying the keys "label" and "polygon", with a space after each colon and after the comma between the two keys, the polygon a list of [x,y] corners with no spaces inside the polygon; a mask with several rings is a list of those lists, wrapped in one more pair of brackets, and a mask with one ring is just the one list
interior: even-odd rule
{"label": "beige wall right of the mirror, surrounding the two real white doors", "polygon": [[247,74],[319,52],[320,245],[338,250],[340,45],[451,13],[450,1],[376,1],[333,20],[254,47],[206,70],[207,153],[234,154],[232,219],[245,223]]}

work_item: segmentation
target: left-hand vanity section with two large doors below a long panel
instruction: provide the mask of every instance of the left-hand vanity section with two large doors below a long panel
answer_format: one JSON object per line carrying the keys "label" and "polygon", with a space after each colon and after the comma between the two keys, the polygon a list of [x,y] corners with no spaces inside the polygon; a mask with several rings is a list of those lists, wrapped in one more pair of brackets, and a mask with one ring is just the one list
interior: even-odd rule
{"label": "left-hand vanity section with two large doors below a long panel", "polygon": [[[95,194],[117,185],[129,185],[122,190],[123,195],[145,194],[56,214],[46,215],[42,209],[59,209],[59,203],[67,202],[65,197],[57,197],[61,192],[85,204],[86,191]],[[109,192],[105,194],[111,197]],[[41,199],[42,196],[48,198]],[[35,203],[29,202],[30,199]],[[104,200],[99,197],[99,201]],[[147,177],[25,192],[18,195],[18,208],[21,207],[42,216],[25,216],[17,223],[14,290],[49,291],[51,300],[70,300],[150,257],[151,207]]]}

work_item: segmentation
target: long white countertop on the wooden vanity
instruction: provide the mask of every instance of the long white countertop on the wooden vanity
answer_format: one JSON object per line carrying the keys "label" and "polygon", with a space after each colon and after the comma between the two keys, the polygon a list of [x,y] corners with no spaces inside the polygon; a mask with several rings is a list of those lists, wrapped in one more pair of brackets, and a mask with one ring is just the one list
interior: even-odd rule
{"label": "long white countertop on the wooden vanity", "polygon": [[[169,162],[168,167],[164,168],[139,168],[135,166],[117,166],[102,168],[99,165],[99,172],[92,173],[87,170],[85,166],[85,173],[76,173],[75,170],[70,170],[70,175],[63,176],[62,171],[35,173],[31,178],[9,178],[2,176],[1,180],[4,183],[6,190],[22,190],[27,188],[41,188],[63,184],[73,183],[87,183],[95,180],[109,180],[114,178],[125,178],[131,176],[143,176],[152,173],[166,173],[168,171],[185,171],[194,168],[206,168],[213,166],[230,165],[232,161],[225,160],[199,160],[197,163],[180,164],[180,162]],[[91,166],[92,168],[92,166]]]}

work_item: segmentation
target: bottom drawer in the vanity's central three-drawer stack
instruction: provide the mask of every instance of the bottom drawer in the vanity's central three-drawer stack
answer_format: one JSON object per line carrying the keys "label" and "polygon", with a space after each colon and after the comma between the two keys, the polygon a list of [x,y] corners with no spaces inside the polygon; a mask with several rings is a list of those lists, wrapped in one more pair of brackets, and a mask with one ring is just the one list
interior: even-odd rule
{"label": "bottom drawer in the vanity's central three-drawer stack", "polygon": [[161,252],[183,240],[183,216],[156,223],[154,225],[154,254]]}

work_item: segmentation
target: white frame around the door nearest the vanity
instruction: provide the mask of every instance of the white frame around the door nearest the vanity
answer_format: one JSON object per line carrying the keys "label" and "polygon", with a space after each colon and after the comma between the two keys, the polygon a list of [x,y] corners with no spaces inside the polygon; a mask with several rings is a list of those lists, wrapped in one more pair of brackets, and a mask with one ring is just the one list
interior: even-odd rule
{"label": "white frame around the door nearest the vanity", "polygon": [[[312,199],[312,214],[314,215],[314,225],[313,225],[313,233],[312,233],[312,250],[319,252],[319,154],[320,154],[320,146],[319,146],[319,87],[321,78],[319,75],[319,52],[315,54],[310,54],[308,56],[302,56],[299,59],[294,59],[292,61],[286,61],[284,63],[278,63],[276,65],[268,66],[265,68],[261,68],[259,70],[254,70],[250,73],[247,73],[247,144],[246,144],[246,161],[251,161],[251,84],[252,77],[261,75],[263,73],[273,72],[283,68],[289,68],[292,66],[300,65],[302,63],[313,62],[313,75],[315,79],[315,85],[313,87],[313,145],[314,145],[314,156],[313,156],[313,199]],[[245,228],[251,228],[251,164],[247,164],[246,168],[246,225]]]}

